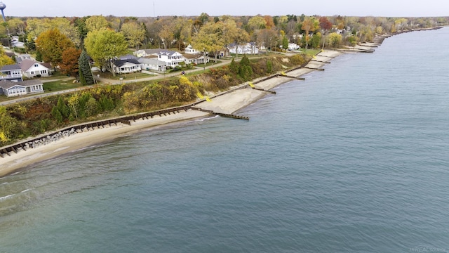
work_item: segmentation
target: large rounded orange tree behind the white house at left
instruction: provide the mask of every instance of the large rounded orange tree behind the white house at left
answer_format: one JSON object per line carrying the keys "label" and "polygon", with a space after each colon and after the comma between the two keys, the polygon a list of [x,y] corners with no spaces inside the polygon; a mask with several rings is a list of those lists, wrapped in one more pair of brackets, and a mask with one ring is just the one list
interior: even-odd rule
{"label": "large rounded orange tree behind the white house at left", "polygon": [[42,32],[36,39],[36,49],[41,53],[42,60],[54,66],[62,63],[62,52],[73,47],[72,41],[58,28]]}

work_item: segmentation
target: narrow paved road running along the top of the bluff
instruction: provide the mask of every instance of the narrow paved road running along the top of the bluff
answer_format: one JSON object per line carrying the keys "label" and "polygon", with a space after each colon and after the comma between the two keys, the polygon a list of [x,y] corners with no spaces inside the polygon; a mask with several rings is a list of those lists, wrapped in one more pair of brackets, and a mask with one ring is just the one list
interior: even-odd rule
{"label": "narrow paved road running along the top of the bluff", "polygon": [[[239,59],[240,60],[240,59]],[[211,67],[220,67],[222,65],[227,65],[229,63],[231,63],[231,60],[220,60],[221,63],[211,63],[211,65],[208,65],[207,67],[203,67],[203,69],[209,69]],[[190,73],[190,72],[196,72],[201,70],[201,67],[196,67],[193,70],[186,70],[186,73]],[[139,79],[133,79],[133,80],[114,80],[114,79],[106,79],[106,78],[102,78],[101,74],[100,77],[95,76],[95,79],[98,80],[99,82],[102,82],[102,84],[127,84],[127,83],[132,83],[132,82],[142,82],[142,81],[149,81],[149,80],[154,80],[154,79],[161,79],[164,77],[177,77],[180,75],[180,72],[173,72],[173,73],[168,73],[168,74],[158,74],[152,77],[145,77],[145,78],[139,78]],[[73,79],[73,78],[72,78]],[[43,79],[42,82],[54,82],[57,79],[48,79],[45,80]],[[13,103],[18,103],[18,102],[23,102],[26,100],[32,100],[35,98],[43,98],[46,96],[54,96],[54,95],[58,95],[58,94],[64,94],[64,93],[70,93],[70,92],[74,92],[74,91],[81,91],[83,89],[89,89],[91,88],[91,86],[83,86],[83,87],[79,87],[79,88],[75,88],[75,89],[67,89],[67,90],[63,90],[63,91],[55,91],[55,92],[46,92],[46,93],[40,93],[40,94],[36,94],[34,96],[25,96],[25,97],[21,97],[21,98],[15,98],[12,100],[7,100],[4,102],[0,102],[0,105],[11,105]]]}

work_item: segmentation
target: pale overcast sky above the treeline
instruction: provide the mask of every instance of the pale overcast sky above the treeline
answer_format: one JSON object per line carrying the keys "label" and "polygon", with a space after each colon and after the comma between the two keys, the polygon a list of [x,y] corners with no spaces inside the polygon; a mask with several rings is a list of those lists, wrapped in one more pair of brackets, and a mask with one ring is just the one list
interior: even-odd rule
{"label": "pale overcast sky above the treeline", "polygon": [[154,17],[220,15],[346,15],[376,17],[449,16],[448,0],[1,0],[6,16]]}

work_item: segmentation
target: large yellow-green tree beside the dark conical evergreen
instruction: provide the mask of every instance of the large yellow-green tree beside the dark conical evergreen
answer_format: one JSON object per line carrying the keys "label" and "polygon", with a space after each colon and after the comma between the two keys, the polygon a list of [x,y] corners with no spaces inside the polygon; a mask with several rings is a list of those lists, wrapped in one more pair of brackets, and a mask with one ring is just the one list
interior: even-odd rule
{"label": "large yellow-green tree beside the dark conical evergreen", "polygon": [[128,44],[123,34],[105,28],[89,32],[84,40],[84,46],[88,55],[95,61],[95,65],[105,67],[114,77],[112,60],[128,51]]}

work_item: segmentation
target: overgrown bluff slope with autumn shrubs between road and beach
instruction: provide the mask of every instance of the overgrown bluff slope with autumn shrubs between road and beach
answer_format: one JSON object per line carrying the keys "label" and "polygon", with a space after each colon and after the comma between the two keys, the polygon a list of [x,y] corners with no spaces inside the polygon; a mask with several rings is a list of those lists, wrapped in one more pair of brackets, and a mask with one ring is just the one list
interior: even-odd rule
{"label": "overgrown bluff slope with autumn shrubs between road and beach", "polygon": [[[310,60],[307,54],[241,58],[230,65],[199,71],[183,77],[134,82],[114,86],[92,86],[75,93],[37,98],[0,107],[0,145],[22,138],[135,112],[160,110],[192,103],[200,95],[226,91],[232,86],[275,72],[285,71]],[[136,77],[137,78],[137,77]],[[46,89],[76,88],[78,84],[47,82]]]}

